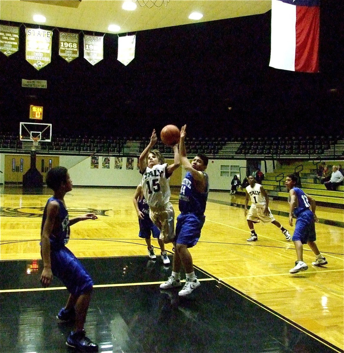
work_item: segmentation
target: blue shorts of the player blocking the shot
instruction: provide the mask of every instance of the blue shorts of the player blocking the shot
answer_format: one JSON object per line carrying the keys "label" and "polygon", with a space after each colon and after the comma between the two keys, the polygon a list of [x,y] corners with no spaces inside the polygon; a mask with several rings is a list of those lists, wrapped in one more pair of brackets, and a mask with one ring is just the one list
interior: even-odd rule
{"label": "blue shorts of the player blocking the shot", "polygon": [[206,217],[194,213],[180,214],[177,217],[176,244],[184,244],[188,247],[195,246],[201,237],[201,230]]}

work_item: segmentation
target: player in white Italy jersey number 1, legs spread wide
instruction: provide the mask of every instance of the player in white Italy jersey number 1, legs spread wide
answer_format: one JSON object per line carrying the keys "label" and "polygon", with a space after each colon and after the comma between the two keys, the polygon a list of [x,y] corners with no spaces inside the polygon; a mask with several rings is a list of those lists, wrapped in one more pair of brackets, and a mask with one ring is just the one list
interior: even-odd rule
{"label": "player in white Italy jersey number 1, legs spread wide", "polygon": [[[257,241],[258,236],[254,230],[254,223],[271,222],[273,225],[281,229],[287,241],[291,240],[290,233],[281,226],[281,224],[274,219],[270,209],[269,209],[269,197],[262,187],[262,185],[257,184],[252,175],[248,178],[249,186],[246,187],[246,199],[245,199],[245,216],[247,216],[247,224],[251,231],[251,237],[247,241]],[[249,198],[251,198],[250,210],[247,209]]]}

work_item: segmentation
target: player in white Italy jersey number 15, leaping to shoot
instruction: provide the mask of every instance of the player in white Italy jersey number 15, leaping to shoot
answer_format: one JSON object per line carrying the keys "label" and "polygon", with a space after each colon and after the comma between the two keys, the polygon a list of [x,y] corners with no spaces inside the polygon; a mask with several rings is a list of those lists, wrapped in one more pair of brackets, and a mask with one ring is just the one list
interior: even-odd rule
{"label": "player in white Italy jersey number 15, leaping to shoot", "polygon": [[143,195],[149,205],[149,217],[160,229],[160,239],[164,243],[171,243],[174,233],[174,210],[170,202],[171,190],[168,178],[180,166],[178,144],[172,147],[174,163],[165,163],[164,157],[158,150],[151,151],[158,138],[155,130],[152,132],[148,146],[141,153],[138,163],[142,174]]}

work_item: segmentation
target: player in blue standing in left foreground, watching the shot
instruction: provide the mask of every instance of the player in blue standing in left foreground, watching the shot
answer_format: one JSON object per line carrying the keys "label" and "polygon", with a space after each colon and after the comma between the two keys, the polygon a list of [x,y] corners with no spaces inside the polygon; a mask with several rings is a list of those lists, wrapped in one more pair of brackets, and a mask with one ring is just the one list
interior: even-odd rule
{"label": "player in blue standing in left foreground, watching the shot", "polygon": [[97,352],[98,345],[85,335],[84,324],[93,290],[93,281],[80,261],[66,247],[70,226],[88,219],[97,219],[88,213],[69,219],[64,196],[72,190],[72,181],[65,167],[55,167],[47,174],[47,186],[54,191],[43,212],[41,226],[41,255],[43,287],[51,284],[53,275],[67,287],[70,295],[67,304],[57,318],[62,322],[75,319],[75,329],[67,338],[66,345],[82,352]]}

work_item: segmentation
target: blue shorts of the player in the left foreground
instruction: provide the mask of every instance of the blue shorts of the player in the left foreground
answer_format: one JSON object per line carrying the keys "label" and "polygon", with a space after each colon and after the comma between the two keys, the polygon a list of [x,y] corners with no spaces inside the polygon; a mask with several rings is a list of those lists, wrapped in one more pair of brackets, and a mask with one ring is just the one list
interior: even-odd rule
{"label": "blue shorts of the player in the left foreground", "polygon": [[67,248],[50,252],[51,270],[75,297],[87,293],[93,287],[93,281],[81,262]]}

